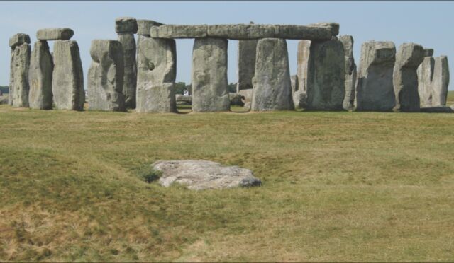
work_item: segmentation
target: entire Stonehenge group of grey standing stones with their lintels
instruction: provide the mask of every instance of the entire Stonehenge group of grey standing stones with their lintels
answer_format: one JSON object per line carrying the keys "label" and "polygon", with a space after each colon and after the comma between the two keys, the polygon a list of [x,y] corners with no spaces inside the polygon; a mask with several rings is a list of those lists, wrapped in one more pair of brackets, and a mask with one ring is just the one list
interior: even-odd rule
{"label": "entire Stonehenge group of grey standing stones with their lintels", "polygon": [[[231,105],[252,111],[358,110],[451,112],[446,110],[449,69],[433,49],[404,43],[365,42],[359,66],[353,37],[339,24],[172,25],[120,17],[116,40],[93,40],[87,72],[89,110],[177,112],[188,96],[176,95],[175,39],[192,38],[192,112],[225,112]],[[138,35],[137,42],[135,34]],[[70,28],[37,30],[9,39],[9,104],[37,110],[84,110],[82,62]],[[290,76],[287,39],[299,40],[297,74]],[[54,40],[50,51],[48,41]],[[227,78],[228,40],[238,40],[238,81]],[[187,88],[186,88],[187,89]],[[185,95],[189,95],[185,93]]]}

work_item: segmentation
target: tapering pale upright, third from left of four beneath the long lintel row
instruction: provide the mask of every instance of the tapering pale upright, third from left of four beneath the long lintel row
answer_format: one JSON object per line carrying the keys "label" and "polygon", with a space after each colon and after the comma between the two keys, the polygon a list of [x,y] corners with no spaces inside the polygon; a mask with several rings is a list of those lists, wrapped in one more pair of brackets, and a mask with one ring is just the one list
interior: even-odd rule
{"label": "tapering pale upright, third from left of four beneath the long lintel row", "polygon": [[258,41],[251,110],[294,110],[287,42]]}

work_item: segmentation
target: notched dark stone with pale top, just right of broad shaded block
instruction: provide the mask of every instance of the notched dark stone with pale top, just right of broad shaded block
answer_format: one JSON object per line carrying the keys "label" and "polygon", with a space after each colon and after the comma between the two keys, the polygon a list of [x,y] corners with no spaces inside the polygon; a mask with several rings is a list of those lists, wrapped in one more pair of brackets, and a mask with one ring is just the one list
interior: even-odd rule
{"label": "notched dark stone with pale top, just right of broad shaded block", "polygon": [[414,43],[400,45],[394,65],[393,84],[396,95],[395,111],[418,112],[418,76],[416,69],[423,61],[423,47]]}

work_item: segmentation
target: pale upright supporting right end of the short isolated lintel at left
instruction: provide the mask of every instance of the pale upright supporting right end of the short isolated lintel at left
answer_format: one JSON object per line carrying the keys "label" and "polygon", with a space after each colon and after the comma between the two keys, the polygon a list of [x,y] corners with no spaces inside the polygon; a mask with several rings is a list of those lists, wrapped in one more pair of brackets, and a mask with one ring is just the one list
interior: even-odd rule
{"label": "pale upright supporting right end of the short isolated lintel at left", "polygon": [[74,40],[54,44],[52,94],[58,110],[84,110],[85,92],[79,45]]}

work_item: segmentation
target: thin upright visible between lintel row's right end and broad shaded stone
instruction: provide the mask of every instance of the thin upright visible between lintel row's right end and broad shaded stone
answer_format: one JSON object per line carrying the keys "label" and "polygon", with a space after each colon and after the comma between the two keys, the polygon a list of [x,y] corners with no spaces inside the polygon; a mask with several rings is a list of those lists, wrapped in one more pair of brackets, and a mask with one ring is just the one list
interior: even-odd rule
{"label": "thin upright visible between lintel row's right end and broad shaded stone", "polygon": [[339,41],[343,44],[345,52],[345,97],[343,99],[344,110],[353,110],[355,103],[356,64],[353,58],[353,37],[342,35]]}

